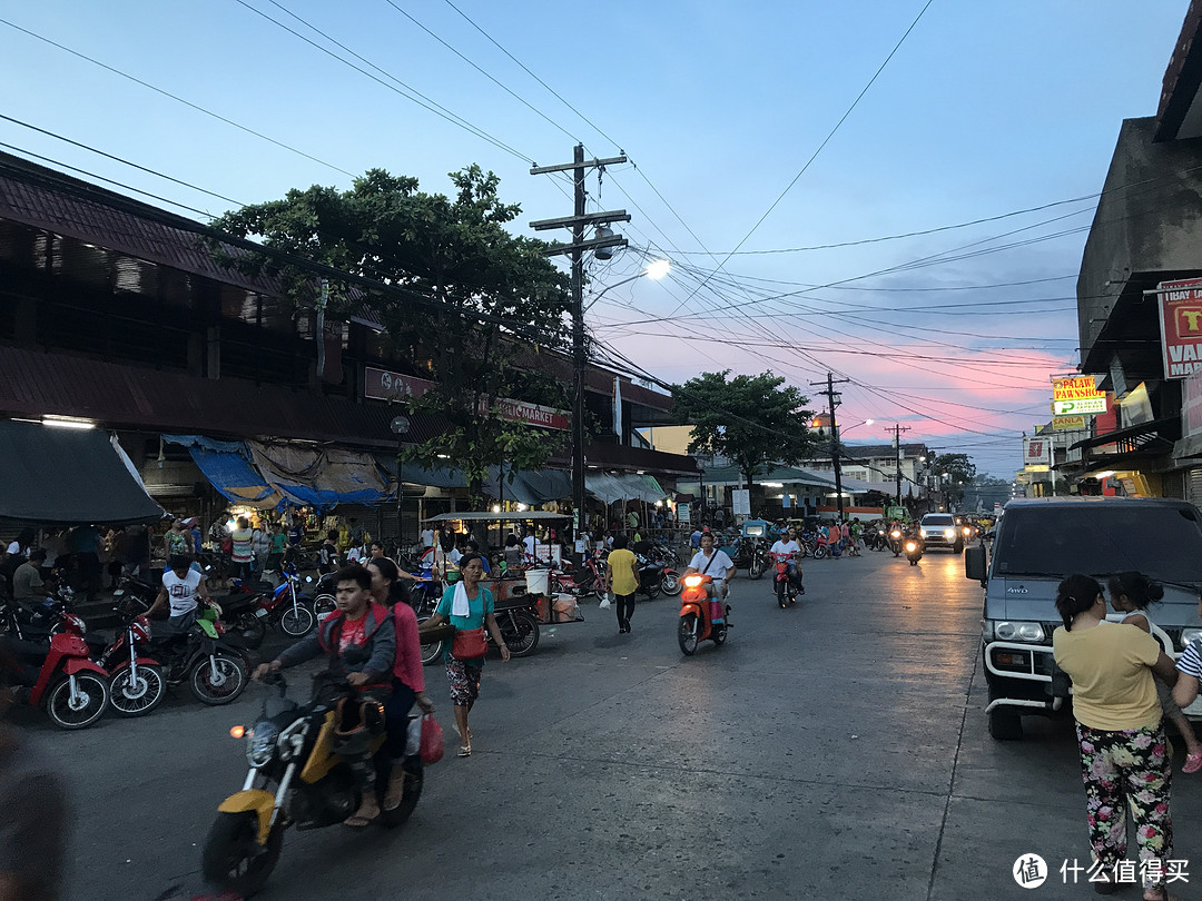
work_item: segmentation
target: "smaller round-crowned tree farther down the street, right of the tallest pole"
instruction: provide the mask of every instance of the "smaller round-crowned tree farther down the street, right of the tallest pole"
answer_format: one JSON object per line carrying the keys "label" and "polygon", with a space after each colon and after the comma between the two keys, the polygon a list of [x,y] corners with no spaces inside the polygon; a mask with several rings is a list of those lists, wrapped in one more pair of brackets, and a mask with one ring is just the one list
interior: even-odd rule
{"label": "smaller round-crowned tree farther down the street, right of the tallest pole", "polygon": [[808,398],[770,372],[734,376],[731,370],[702,372],[672,394],[677,422],[692,425],[689,453],[721,454],[750,485],[761,466],[793,465],[814,455]]}

